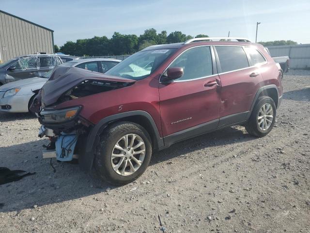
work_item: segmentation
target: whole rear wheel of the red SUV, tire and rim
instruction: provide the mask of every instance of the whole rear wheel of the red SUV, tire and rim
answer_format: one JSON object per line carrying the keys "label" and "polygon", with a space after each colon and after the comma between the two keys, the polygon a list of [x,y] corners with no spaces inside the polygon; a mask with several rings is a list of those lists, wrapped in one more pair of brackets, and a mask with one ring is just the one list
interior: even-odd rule
{"label": "whole rear wheel of the red SUV, tire and rim", "polygon": [[264,137],[275,124],[277,107],[273,99],[262,96],[256,101],[251,116],[246,124],[246,130],[255,137]]}

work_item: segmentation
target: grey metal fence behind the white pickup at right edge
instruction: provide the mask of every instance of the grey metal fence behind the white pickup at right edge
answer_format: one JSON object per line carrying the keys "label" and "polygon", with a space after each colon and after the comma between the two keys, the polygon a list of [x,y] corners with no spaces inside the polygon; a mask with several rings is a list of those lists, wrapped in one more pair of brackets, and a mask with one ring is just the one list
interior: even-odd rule
{"label": "grey metal fence behind the white pickup at right edge", "polygon": [[310,44],[268,46],[272,57],[289,56],[290,68],[310,69]]}

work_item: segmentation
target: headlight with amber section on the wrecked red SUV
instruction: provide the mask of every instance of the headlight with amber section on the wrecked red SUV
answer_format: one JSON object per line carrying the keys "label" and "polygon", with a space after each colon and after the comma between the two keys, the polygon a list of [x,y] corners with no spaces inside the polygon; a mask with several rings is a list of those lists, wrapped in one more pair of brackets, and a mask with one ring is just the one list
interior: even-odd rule
{"label": "headlight with amber section on the wrecked red SUV", "polygon": [[80,109],[81,107],[78,106],[61,110],[52,110],[52,111],[42,110],[40,112],[40,115],[42,117],[43,122],[47,123],[63,122],[66,120],[71,120],[75,116],[77,116]]}

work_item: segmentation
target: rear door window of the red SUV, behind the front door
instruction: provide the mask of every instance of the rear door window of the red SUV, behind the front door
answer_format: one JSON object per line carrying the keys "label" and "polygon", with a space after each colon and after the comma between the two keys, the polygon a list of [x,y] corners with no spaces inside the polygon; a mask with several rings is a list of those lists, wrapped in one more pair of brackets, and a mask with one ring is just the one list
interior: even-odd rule
{"label": "rear door window of the red SUV, behind the front door", "polygon": [[240,46],[216,46],[221,72],[249,67],[247,54]]}

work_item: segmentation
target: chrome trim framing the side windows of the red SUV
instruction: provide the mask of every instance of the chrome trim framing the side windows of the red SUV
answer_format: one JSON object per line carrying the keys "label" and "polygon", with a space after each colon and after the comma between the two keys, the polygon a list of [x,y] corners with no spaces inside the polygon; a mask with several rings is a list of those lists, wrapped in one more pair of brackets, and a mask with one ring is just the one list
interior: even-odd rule
{"label": "chrome trim framing the side windows of the red SUV", "polygon": [[[187,51],[187,50],[193,49],[193,48],[205,47],[205,46],[209,46],[209,47],[210,47],[211,55],[214,56],[214,51],[212,50],[211,45],[199,45],[199,46],[190,47],[190,48],[184,50],[183,52],[181,52],[175,59],[173,59],[173,61],[168,65],[168,67],[167,67],[167,68],[164,70],[164,72],[162,72],[162,74],[160,75],[160,77],[159,77],[159,83],[179,83],[179,82],[194,81],[194,80],[205,79],[205,78],[209,78],[209,77],[213,77],[213,76],[217,76],[217,75],[221,75],[221,74],[227,74],[227,73],[231,73],[231,72],[235,72],[235,71],[240,71],[240,70],[244,70],[244,69],[249,69],[249,68],[254,68],[254,67],[257,67],[257,68],[258,68],[258,66],[263,66],[263,65],[268,64],[268,60],[266,59],[266,57],[265,57],[259,50],[257,50],[255,47],[252,47],[252,46],[244,46],[244,45],[212,45],[212,46],[215,46],[215,47],[216,47],[216,46],[237,46],[237,47],[242,47],[243,50],[244,50],[244,47],[252,47],[252,48],[255,48],[255,50],[257,50],[257,51],[263,56],[263,58],[265,59],[265,62],[258,63],[258,64],[253,65],[253,66],[244,67],[244,68],[241,68],[241,69],[234,69],[234,70],[230,70],[230,71],[227,71],[227,72],[216,73],[216,74],[212,74],[212,75],[205,76],[205,77],[201,77],[201,78],[188,79],[188,80],[179,80],[179,81],[167,81],[167,82],[161,82],[161,81],[160,81],[161,76],[167,71],[167,69],[170,67],[170,65],[171,65],[179,56],[182,55],[182,53],[184,53],[184,52]],[[248,53],[247,53],[245,50],[244,50],[244,52],[246,53],[246,56],[247,56],[247,58],[248,58]],[[213,67],[213,66],[212,66],[212,67]]]}

